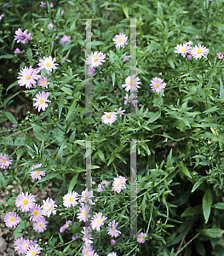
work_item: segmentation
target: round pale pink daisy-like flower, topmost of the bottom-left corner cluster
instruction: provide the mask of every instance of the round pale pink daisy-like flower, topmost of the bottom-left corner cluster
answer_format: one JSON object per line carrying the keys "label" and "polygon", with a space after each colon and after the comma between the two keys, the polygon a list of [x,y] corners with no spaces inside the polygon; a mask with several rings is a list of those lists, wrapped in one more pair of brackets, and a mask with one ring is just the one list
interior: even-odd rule
{"label": "round pale pink daisy-like flower, topmost of the bottom-left corner cluster", "polygon": [[35,198],[34,195],[24,194],[23,192],[17,196],[15,200],[15,205],[16,207],[20,208],[22,212],[29,212],[32,207],[35,205]]}

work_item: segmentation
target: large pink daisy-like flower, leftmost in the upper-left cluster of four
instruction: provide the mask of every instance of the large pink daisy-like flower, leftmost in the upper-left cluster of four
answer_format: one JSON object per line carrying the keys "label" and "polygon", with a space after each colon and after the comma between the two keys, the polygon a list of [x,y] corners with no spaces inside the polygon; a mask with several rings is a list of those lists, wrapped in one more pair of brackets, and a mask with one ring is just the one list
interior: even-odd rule
{"label": "large pink daisy-like flower, leftmost in the upper-left cluster of four", "polygon": [[37,75],[37,73],[32,67],[28,68],[26,66],[20,71],[19,75],[20,77],[17,77],[17,79],[19,79],[18,83],[20,84],[20,86],[26,85],[26,89],[31,89],[32,84],[35,86],[35,79],[40,78],[40,76]]}

